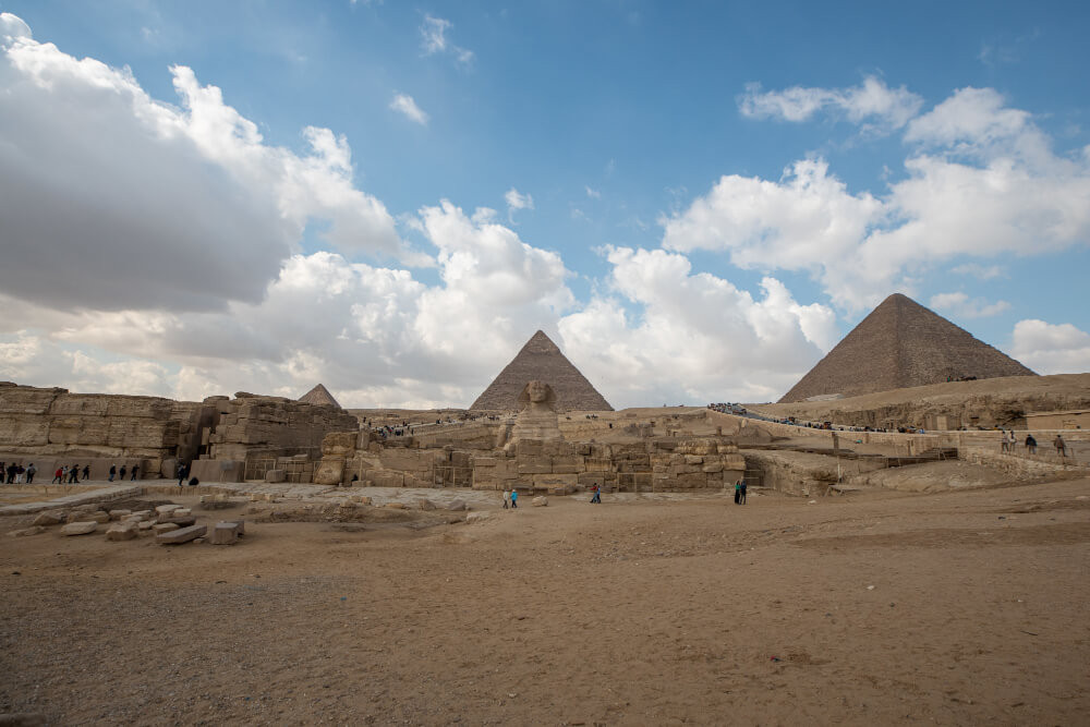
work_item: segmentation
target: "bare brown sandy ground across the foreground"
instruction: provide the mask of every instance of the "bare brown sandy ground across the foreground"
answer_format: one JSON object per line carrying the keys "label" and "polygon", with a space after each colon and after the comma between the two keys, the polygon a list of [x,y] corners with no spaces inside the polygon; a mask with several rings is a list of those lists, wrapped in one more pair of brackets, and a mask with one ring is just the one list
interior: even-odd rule
{"label": "bare brown sandy ground across the foreground", "polygon": [[420,531],[258,523],[220,547],[4,536],[0,713],[1087,724],[1088,495],[556,498]]}

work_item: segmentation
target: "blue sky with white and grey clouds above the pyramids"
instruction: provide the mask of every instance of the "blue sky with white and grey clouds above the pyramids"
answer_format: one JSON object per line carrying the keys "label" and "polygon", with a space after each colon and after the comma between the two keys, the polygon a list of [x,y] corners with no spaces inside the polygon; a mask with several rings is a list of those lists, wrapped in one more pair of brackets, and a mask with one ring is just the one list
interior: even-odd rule
{"label": "blue sky with white and grey clouds above the pyramids", "polygon": [[0,0],[0,380],[778,399],[901,292],[1090,371],[1085,2]]}

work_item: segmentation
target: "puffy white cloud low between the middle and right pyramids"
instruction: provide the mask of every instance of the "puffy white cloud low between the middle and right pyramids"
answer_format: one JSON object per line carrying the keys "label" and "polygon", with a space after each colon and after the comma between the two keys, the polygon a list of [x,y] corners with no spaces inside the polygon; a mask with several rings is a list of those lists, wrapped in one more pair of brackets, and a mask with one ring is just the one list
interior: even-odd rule
{"label": "puffy white cloud low between the middle and right pyramids", "polygon": [[[774,278],[755,300],[662,250],[608,247],[609,291],[559,324],[566,352],[615,407],[774,399],[838,337],[835,316]],[[635,306],[637,312],[630,312]]]}

